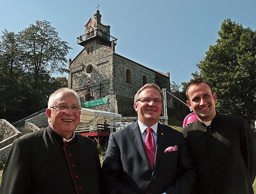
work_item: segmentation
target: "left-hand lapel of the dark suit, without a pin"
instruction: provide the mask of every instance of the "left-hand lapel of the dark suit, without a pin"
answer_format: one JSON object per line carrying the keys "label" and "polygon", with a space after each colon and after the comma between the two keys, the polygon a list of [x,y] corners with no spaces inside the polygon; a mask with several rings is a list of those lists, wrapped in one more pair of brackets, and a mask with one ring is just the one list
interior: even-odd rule
{"label": "left-hand lapel of the dark suit, without a pin", "polygon": [[148,166],[148,168],[151,170],[150,164],[148,162],[148,157],[146,155],[145,148],[144,148],[144,145],[143,145],[143,141],[142,141],[142,138],[141,138],[140,127],[139,127],[137,121],[132,125],[131,130],[129,131],[129,133],[130,133],[130,136],[131,136],[131,138],[134,142],[134,145],[136,146],[138,152],[140,153],[140,156],[142,157],[142,160],[144,161],[146,166]]}

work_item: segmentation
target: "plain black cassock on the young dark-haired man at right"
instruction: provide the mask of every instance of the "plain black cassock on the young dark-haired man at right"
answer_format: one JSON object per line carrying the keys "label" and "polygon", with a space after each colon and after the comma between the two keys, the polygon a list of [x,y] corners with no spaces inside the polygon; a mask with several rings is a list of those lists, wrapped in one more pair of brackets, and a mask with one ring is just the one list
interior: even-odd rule
{"label": "plain black cassock on the young dark-haired man at right", "polygon": [[202,194],[253,194],[256,136],[244,118],[218,114],[207,126],[196,120],[181,130]]}

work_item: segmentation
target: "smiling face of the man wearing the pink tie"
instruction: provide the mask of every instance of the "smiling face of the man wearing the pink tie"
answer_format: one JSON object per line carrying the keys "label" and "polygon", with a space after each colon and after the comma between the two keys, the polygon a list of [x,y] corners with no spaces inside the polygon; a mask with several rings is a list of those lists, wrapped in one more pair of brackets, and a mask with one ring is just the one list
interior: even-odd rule
{"label": "smiling face of the man wearing the pink tie", "polygon": [[[140,98],[162,99],[160,93],[155,88],[145,88],[138,94]],[[134,109],[138,113],[138,120],[146,126],[152,126],[162,113],[162,104],[156,104],[153,100],[150,103],[138,101],[134,103]]]}

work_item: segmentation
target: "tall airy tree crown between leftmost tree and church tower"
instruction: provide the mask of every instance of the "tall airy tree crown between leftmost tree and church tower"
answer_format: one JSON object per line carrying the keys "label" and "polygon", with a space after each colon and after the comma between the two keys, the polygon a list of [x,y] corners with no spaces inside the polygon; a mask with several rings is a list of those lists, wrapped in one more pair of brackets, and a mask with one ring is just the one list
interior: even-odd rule
{"label": "tall airy tree crown between leftmost tree and church tower", "polygon": [[36,21],[36,24],[19,32],[20,45],[24,50],[23,62],[26,70],[34,75],[35,89],[40,76],[67,72],[65,56],[72,48],[58,37],[56,28],[50,24],[46,20]]}

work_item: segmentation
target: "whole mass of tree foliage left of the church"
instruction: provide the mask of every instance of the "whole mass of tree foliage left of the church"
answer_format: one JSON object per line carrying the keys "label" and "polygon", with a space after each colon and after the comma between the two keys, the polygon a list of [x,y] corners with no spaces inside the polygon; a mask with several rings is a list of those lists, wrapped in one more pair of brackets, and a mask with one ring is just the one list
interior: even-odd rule
{"label": "whole mass of tree foliage left of the church", "polygon": [[15,122],[47,107],[49,95],[67,79],[68,43],[58,37],[50,22],[36,21],[15,34],[3,31],[0,42],[0,118]]}

